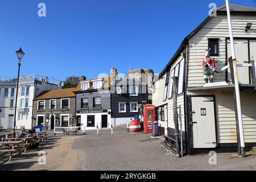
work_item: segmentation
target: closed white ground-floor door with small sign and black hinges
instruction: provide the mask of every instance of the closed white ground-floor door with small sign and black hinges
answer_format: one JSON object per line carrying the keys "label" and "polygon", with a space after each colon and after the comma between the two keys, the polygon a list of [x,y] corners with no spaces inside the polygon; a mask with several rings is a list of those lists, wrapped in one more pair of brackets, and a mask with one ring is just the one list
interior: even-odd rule
{"label": "closed white ground-floor door with small sign and black hinges", "polygon": [[192,97],[193,148],[215,148],[216,126],[213,97]]}

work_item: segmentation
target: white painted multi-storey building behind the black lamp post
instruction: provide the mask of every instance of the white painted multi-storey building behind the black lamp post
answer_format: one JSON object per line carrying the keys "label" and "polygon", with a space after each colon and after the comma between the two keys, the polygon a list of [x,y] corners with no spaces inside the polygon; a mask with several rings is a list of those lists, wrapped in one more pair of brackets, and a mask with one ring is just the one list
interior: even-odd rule
{"label": "white painted multi-storey building behind the black lamp post", "polygon": [[[0,123],[4,129],[13,129],[14,126],[14,107],[16,94],[16,79],[0,82]],[[61,83],[56,80],[48,81],[42,76],[22,76],[19,79],[19,90],[16,110],[16,129],[31,129],[33,100],[36,96],[46,90],[62,88]],[[8,90],[8,94],[7,94]]]}

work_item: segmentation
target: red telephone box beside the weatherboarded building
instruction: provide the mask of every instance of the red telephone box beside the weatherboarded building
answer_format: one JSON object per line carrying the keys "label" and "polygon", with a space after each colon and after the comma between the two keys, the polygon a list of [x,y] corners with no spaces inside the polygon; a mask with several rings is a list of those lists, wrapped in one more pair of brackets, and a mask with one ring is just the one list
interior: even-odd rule
{"label": "red telephone box beside the weatherboarded building", "polygon": [[153,133],[153,123],[155,122],[155,106],[148,104],[144,105],[144,133]]}

